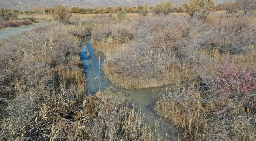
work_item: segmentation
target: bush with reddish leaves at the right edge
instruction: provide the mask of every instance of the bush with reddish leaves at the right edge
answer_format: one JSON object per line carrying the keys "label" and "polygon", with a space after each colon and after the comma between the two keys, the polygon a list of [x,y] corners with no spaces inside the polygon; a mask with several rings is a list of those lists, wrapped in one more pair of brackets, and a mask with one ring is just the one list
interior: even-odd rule
{"label": "bush with reddish leaves at the right edge", "polygon": [[243,107],[256,112],[256,67],[245,68],[244,65],[237,65],[227,59],[213,69],[213,74],[203,81],[214,96],[226,101],[240,101]]}

